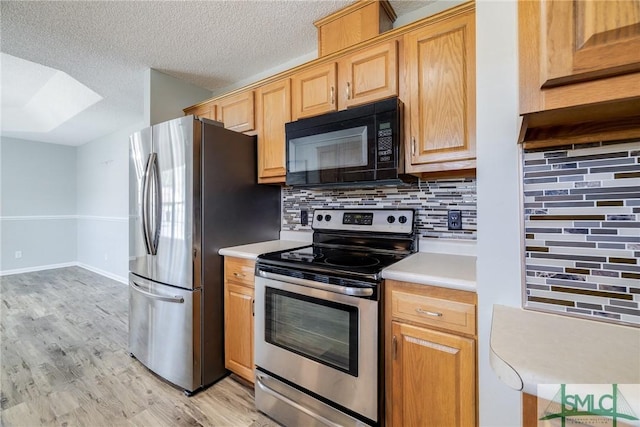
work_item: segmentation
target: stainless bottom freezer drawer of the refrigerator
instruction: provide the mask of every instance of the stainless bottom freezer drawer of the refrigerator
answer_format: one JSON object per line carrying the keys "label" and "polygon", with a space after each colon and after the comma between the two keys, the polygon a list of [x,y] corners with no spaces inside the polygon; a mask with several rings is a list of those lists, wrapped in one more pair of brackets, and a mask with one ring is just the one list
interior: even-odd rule
{"label": "stainless bottom freezer drawer of the refrigerator", "polygon": [[200,295],[129,274],[129,352],[188,391],[202,385]]}

